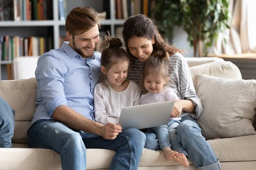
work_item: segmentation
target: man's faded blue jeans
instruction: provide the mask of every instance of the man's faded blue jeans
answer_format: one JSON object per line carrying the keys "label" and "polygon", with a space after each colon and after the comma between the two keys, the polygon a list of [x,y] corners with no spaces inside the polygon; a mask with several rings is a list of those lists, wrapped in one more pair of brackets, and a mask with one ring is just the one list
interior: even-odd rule
{"label": "man's faded blue jeans", "polygon": [[106,140],[45,119],[34,122],[27,135],[29,147],[52,149],[61,153],[62,170],[85,170],[86,149],[89,148],[116,151],[110,170],[137,170],[145,146],[145,135],[137,129],[124,130],[116,139]]}

